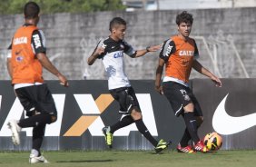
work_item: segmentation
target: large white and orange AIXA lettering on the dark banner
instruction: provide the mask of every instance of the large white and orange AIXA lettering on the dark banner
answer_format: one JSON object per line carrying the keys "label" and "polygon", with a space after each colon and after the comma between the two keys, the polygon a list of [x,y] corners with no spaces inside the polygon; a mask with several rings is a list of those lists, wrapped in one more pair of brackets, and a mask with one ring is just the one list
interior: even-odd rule
{"label": "large white and orange AIXA lettering on the dark banner", "polygon": [[[136,96],[143,112],[144,123],[153,136],[158,136],[150,94],[137,93]],[[74,103],[64,103],[65,94],[53,94],[53,97],[58,112],[58,119],[55,123],[46,126],[45,136],[60,136],[61,126],[63,123],[64,106],[75,105]],[[0,111],[2,98],[2,95],[0,95]],[[68,128],[68,130],[64,133],[64,136],[81,136],[87,130],[92,136],[103,136],[102,128],[105,125],[101,118],[101,114],[111,103],[113,103],[113,97],[110,94],[101,94],[97,99],[94,100],[92,94],[84,93],[74,94],[74,99],[78,104],[82,115],[73,123],[71,127]],[[116,114],[118,114],[117,111]],[[5,123],[3,123],[1,127],[0,136],[11,136],[11,131],[7,127],[8,121],[12,119],[19,120],[24,116],[25,113],[23,106],[16,98],[7,117],[5,118]],[[26,133],[26,136],[32,136],[32,128],[24,128],[22,131]],[[124,127],[122,130],[116,131],[114,135],[128,136],[131,131],[138,131],[134,123]]]}

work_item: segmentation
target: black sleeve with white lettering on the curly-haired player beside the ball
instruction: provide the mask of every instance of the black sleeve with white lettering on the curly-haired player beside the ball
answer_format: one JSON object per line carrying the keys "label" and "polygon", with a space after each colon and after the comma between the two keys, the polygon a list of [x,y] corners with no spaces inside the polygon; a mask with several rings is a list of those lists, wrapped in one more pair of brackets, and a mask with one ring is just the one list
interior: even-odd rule
{"label": "black sleeve with white lettering on the curly-haired player beside the ball", "polygon": [[168,39],[163,42],[159,57],[166,62],[175,51],[175,43],[172,41],[172,39]]}

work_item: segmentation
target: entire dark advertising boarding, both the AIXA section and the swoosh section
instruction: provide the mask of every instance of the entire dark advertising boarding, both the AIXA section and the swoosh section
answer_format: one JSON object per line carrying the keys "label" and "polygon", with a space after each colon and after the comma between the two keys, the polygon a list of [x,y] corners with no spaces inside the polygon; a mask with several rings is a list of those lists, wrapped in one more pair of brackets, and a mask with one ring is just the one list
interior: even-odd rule
{"label": "entire dark advertising boarding, both the AIXA section and the swoosh section", "polygon": [[[106,148],[102,128],[121,119],[119,105],[108,92],[107,81],[70,81],[64,88],[57,81],[46,81],[53,93],[58,120],[46,125],[44,150],[103,150]],[[256,148],[256,113],[254,99],[256,79],[222,79],[222,88],[211,80],[194,79],[192,91],[204,114],[199,129],[200,137],[206,133],[222,134],[222,149]],[[185,125],[182,117],[175,117],[167,99],[154,90],[154,81],[132,81],[139,100],[143,121],[157,139],[172,140],[176,148]],[[25,118],[25,112],[15,97],[10,81],[0,81],[0,150],[30,150],[32,128],[20,133],[21,144],[14,146],[9,120]],[[121,150],[152,150],[153,146],[135,124],[113,134],[113,148]]]}

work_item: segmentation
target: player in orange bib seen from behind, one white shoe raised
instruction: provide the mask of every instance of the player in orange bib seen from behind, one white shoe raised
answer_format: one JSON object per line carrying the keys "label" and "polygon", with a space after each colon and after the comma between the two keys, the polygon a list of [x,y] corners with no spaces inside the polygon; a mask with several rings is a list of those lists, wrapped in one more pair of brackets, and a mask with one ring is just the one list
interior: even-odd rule
{"label": "player in orange bib seen from behind, one white shoe raised", "polygon": [[33,127],[32,151],[29,162],[47,162],[40,148],[44,139],[45,125],[54,123],[57,111],[54,99],[43,79],[43,67],[56,75],[61,84],[68,86],[67,80],[46,56],[45,38],[37,28],[40,7],[34,2],[25,4],[25,25],[15,32],[12,54],[7,58],[8,72],[12,79],[15,94],[25,108],[28,118],[11,120],[8,125],[12,131],[15,145],[20,143],[22,128]]}

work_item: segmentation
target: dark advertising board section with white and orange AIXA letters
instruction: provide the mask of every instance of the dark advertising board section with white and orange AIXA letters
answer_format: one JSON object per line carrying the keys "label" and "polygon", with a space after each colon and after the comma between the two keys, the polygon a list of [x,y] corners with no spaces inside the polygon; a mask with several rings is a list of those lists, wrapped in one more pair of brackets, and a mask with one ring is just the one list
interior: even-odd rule
{"label": "dark advertising board section with white and orange AIXA letters", "polygon": [[[46,125],[44,150],[103,150],[102,128],[112,125],[122,117],[119,105],[113,101],[107,89],[107,81],[70,81],[64,88],[57,81],[46,81],[53,93],[58,120]],[[20,133],[21,144],[14,146],[9,120],[25,118],[25,112],[9,81],[0,82],[0,149],[30,150],[32,128]],[[182,120],[176,119],[165,97],[153,89],[153,81],[132,81],[133,88],[143,112],[143,121],[156,139],[178,142],[182,135]],[[116,131],[113,148],[123,150],[150,150],[153,146],[138,132],[135,124]]]}

